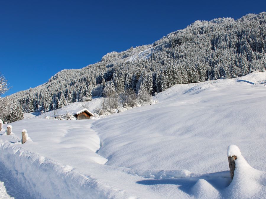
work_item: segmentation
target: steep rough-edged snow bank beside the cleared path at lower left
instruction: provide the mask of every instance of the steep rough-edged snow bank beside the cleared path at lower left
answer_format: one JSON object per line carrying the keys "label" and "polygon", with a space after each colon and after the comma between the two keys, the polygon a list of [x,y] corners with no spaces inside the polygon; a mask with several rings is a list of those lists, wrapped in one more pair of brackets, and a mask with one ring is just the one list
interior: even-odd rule
{"label": "steep rough-edged snow bank beside the cleared path at lower left", "polygon": [[[107,198],[110,187],[73,167],[53,162],[11,142],[0,140],[0,163],[32,198]],[[112,195],[112,194],[111,194]]]}

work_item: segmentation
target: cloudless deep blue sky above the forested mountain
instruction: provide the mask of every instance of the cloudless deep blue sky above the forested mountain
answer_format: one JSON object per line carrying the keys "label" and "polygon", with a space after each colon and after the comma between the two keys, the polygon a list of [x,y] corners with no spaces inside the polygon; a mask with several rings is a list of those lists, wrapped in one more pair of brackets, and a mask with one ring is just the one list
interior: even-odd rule
{"label": "cloudless deep blue sky above the forested mountain", "polygon": [[237,19],[266,1],[0,1],[0,72],[6,95],[82,68],[107,52],[151,44],[196,20]]}

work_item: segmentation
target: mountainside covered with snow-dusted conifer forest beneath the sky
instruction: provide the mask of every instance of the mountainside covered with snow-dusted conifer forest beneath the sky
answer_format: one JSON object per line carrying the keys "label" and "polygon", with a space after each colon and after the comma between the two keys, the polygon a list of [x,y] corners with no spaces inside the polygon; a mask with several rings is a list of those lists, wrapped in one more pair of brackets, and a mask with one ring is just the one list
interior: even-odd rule
{"label": "mountainside covered with snow-dusted conifer forest beneath the sky", "polygon": [[111,52],[82,69],[62,70],[48,82],[1,98],[0,118],[10,112],[62,108],[76,101],[104,96],[104,88],[132,89],[150,95],[177,83],[235,78],[266,69],[266,12],[240,19],[196,21],[151,45]]}

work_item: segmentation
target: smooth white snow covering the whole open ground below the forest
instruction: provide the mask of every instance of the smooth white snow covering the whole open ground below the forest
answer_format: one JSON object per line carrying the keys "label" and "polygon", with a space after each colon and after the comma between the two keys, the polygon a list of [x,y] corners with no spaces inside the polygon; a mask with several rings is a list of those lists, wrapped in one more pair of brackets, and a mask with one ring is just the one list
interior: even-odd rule
{"label": "smooth white snow covering the whole open ground below the forest", "polygon": [[[0,197],[265,198],[265,80],[251,73],[175,85],[158,104],[99,120],[27,114],[10,136],[1,131]],[[22,129],[32,142],[20,144]],[[232,182],[231,144],[241,150],[228,151],[238,157]]]}

